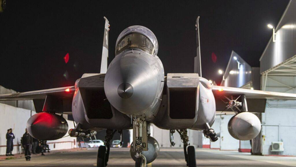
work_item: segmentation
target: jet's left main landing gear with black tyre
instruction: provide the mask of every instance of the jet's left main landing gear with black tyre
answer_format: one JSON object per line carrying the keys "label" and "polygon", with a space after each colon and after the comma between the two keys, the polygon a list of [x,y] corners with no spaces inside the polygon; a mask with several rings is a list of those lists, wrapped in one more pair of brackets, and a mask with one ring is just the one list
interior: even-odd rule
{"label": "jet's left main landing gear with black tyre", "polygon": [[[106,167],[108,165],[108,160],[109,160],[109,153],[110,153],[110,145],[112,142],[112,138],[114,136],[114,133],[117,130],[106,130],[106,136],[105,136],[105,146],[99,146],[98,150],[98,156],[97,156],[97,161],[96,161],[96,166],[97,167]],[[122,145],[122,130],[118,130],[118,133],[120,133],[120,145]]]}

